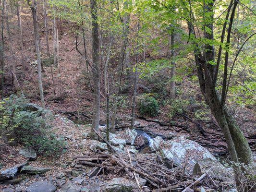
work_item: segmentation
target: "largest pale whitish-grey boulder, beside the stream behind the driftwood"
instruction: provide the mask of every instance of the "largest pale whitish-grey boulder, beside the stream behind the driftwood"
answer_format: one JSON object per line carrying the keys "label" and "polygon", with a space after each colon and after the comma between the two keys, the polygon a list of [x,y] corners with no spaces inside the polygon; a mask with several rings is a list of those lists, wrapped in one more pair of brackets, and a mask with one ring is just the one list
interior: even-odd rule
{"label": "largest pale whitish-grey boulder, beside the stream behind the driftwood", "polygon": [[206,148],[184,137],[170,140],[160,152],[164,160],[170,161],[176,167],[187,164],[185,170],[188,172],[192,172],[195,163],[204,158],[217,161]]}

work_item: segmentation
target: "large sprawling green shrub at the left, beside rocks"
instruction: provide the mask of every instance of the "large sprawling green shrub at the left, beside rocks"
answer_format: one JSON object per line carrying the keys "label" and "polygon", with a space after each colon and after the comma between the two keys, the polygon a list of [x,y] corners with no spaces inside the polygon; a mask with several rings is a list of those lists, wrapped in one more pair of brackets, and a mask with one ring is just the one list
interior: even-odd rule
{"label": "large sprawling green shrub at the left, beside rocks", "polygon": [[[47,123],[49,112],[30,111],[27,103],[22,96],[11,96],[0,102],[0,137],[9,144],[18,143],[35,149],[38,154],[61,154],[65,143],[52,134]],[[42,113],[45,118],[42,118]]]}

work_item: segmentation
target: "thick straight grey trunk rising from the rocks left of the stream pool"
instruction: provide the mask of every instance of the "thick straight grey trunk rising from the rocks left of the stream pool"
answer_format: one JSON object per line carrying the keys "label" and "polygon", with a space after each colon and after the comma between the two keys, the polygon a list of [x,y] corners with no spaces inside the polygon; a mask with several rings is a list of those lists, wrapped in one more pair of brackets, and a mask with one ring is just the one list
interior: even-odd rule
{"label": "thick straight grey trunk rising from the rocks left of the stream pool", "polygon": [[97,139],[97,134],[94,130],[98,131],[99,125],[99,110],[100,110],[100,80],[99,80],[99,33],[98,33],[98,15],[97,15],[97,2],[91,0],[91,15],[92,15],[92,50],[93,50],[93,95],[94,95],[94,109],[93,120],[91,127],[91,135]]}

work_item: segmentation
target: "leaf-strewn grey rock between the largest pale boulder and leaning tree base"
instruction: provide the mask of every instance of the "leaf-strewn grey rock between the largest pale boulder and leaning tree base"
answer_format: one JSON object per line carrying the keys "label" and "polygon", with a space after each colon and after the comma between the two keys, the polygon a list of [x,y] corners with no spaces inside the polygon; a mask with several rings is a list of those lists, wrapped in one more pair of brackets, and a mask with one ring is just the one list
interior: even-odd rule
{"label": "leaf-strewn grey rock between the largest pale boulder and leaning tree base", "polygon": [[193,175],[201,176],[205,170],[211,168],[207,173],[213,179],[233,180],[232,168],[225,168],[219,161],[213,161],[210,158],[204,158],[195,163]]}

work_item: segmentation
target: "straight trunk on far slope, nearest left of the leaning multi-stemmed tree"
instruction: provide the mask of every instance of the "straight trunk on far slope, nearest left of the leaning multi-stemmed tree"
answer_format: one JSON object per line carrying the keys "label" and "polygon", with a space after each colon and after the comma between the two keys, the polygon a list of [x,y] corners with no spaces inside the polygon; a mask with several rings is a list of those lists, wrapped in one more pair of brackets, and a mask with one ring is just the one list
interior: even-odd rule
{"label": "straight trunk on far slope, nearest left of the leaning multi-stemmed tree", "polygon": [[[171,60],[174,59],[175,50],[174,50],[174,32],[171,32]],[[175,62],[171,62],[171,72],[170,72],[170,97],[171,99],[175,98]]]}

